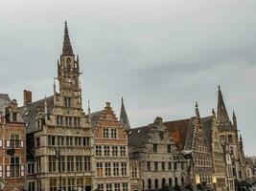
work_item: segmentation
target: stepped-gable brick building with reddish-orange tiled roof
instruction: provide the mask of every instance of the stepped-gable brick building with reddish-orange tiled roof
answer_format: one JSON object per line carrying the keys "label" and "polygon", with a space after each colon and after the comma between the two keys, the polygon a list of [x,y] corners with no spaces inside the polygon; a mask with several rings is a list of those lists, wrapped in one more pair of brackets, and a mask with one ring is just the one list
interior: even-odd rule
{"label": "stepped-gable brick building with reddish-orange tiled roof", "polygon": [[199,116],[198,103],[196,117],[165,122],[175,140],[176,147],[183,153],[190,153],[189,184],[201,184],[213,188],[212,153],[206,138],[203,121]]}

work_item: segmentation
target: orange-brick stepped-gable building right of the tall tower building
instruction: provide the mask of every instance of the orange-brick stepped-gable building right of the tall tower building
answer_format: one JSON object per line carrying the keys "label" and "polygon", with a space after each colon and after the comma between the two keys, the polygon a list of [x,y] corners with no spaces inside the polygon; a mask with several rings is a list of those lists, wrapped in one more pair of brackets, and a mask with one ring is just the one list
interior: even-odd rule
{"label": "orange-brick stepped-gable building right of the tall tower building", "polygon": [[89,114],[94,130],[94,152],[99,191],[130,190],[128,136],[110,103],[105,109]]}

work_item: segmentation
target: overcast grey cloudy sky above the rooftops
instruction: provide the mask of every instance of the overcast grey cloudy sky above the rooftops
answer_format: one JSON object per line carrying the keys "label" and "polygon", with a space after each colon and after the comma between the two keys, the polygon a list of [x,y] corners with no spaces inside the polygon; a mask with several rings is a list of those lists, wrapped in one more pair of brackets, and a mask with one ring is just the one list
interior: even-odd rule
{"label": "overcast grey cloudy sky above the rooftops", "polygon": [[53,94],[64,20],[80,55],[84,109],[124,96],[133,127],[217,107],[221,85],[256,155],[255,0],[9,0],[0,7],[0,92]]}

